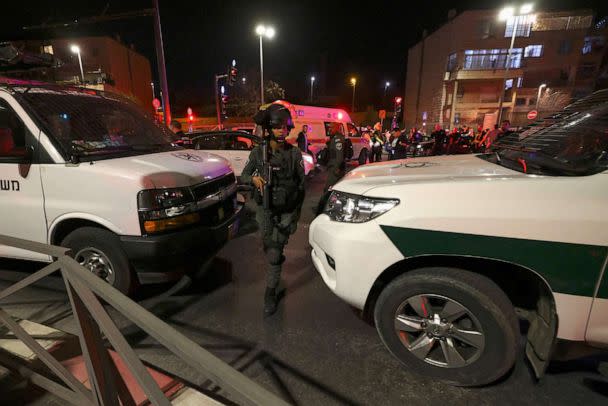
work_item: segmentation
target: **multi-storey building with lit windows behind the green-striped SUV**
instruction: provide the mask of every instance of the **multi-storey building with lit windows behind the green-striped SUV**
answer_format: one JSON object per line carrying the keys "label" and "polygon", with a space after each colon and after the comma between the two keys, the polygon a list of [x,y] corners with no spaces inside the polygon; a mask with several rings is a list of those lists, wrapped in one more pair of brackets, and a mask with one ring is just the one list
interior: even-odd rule
{"label": "multi-storey building with lit windows behind the green-striped SUV", "polygon": [[606,85],[608,30],[590,10],[502,22],[498,10],[454,14],[409,50],[406,126],[490,128],[502,89],[502,118],[521,126],[531,110],[547,115]]}

